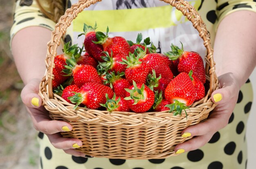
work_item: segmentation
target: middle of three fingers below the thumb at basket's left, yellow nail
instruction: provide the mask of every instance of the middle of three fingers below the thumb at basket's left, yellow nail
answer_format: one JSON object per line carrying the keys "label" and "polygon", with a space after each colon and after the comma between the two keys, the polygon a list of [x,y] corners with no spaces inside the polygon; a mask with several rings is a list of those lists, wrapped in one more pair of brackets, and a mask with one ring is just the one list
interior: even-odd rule
{"label": "middle of three fingers below the thumb at basket's left, yellow nail", "polygon": [[47,134],[49,141],[57,149],[76,149],[82,147],[83,143],[77,138],[62,137],[61,134]]}

